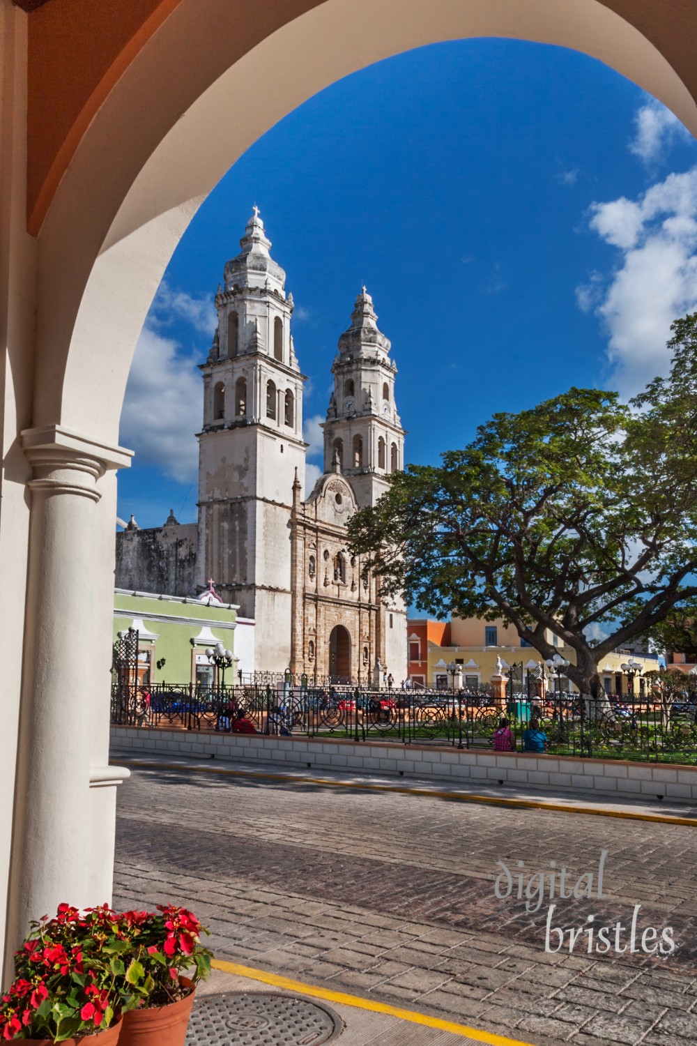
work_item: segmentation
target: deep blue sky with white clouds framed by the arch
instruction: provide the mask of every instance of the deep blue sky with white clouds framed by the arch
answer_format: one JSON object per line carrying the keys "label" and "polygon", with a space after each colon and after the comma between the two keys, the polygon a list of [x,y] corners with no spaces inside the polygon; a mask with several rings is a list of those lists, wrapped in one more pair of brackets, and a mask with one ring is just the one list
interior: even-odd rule
{"label": "deep blue sky with white clouds framed by the arch", "polygon": [[339,335],[362,283],[398,367],[405,460],[571,385],[630,395],[697,308],[697,145],[583,54],[438,44],[355,73],[238,160],[176,251],[132,368],[122,519],[195,518],[212,299],[254,203],[296,301],[308,479]]}

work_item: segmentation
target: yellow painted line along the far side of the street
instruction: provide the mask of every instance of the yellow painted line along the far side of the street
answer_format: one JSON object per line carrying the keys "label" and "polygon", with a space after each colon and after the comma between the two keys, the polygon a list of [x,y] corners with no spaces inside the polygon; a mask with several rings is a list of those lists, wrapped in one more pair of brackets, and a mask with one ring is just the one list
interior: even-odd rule
{"label": "yellow painted line along the far side of the street", "polygon": [[202,774],[225,774],[228,777],[261,777],[266,780],[286,781],[293,784],[323,784],[327,788],[350,788],[362,792],[395,792],[399,795],[419,795],[428,799],[447,799],[450,802],[489,803],[492,806],[514,806],[524,810],[548,810],[552,813],[585,814],[590,817],[620,817],[628,821],[652,821],[658,824],[682,824],[697,827],[697,818],[667,814],[640,814],[630,810],[608,810],[606,806],[574,806],[571,803],[547,802],[543,799],[513,799],[506,796],[465,795],[462,792],[442,792],[437,789],[406,788],[399,784],[370,784],[366,781],[335,781],[327,777],[296,777],[260,770],[228,770],[226,767],[188,766],[184,763],[150,763],[145,759],[119,759],[124,767],[142,767],[146,770],[193,770]]}

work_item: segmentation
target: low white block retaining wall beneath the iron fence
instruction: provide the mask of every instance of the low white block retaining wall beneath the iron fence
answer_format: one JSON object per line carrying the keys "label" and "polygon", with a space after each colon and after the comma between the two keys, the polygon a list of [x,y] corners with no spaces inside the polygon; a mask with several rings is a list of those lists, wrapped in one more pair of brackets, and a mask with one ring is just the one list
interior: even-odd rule
{"label": "low white block retaining wall beneath the iron fence", "polygon": [[491,784],[534,784],[574,792],[611,792],[618,796],[683,802],[697,800],[697,767],[671,767],[620,759],[580,759],[516,752],[459,751],[419,745],[328,741],[311,737],[268,737],[262,734],[213,733],[113,726],[112,747],[134,755],[191,755],[222,759],[258,759],[285,767],[441,777]]}

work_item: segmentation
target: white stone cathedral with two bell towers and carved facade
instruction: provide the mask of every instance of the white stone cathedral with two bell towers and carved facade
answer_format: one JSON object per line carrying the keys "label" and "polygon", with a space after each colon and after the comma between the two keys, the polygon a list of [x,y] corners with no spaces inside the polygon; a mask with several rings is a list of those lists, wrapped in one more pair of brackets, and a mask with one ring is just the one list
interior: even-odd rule
{"label": "white stone cathedral with two bell towers and carved facade", "polygon": [[346,549],[346,521],[403,468],[396,366],[364,287],[339,338],[324,430],[324,471],[303,500],[305,376],[293,295],[271,256],[258,208],[215,296],[217,327],[203,374],[199,520],[117,535],[116,585],[219,598],[254,621],[254,667],[316,679],[406,676],[406,615],[381,598]]}

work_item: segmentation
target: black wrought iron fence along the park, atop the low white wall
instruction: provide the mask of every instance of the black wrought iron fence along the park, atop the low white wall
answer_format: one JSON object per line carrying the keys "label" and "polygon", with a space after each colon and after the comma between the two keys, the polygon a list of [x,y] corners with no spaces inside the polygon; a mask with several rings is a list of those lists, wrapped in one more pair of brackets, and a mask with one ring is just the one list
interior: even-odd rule
{"label": "black wrought iron fence along the park, atop the low white wall", "polygon": [[517,751],[697,763],[697,710],[690,696],[663,705],[646,700],[588,701],[565,692],[545,703],[514,693],[506,707],[490,695],[295,686],[288,682],[218,686],[112,688],[112,723],[282,736],[381,738],[402,744],[492,748],[502,718]]}

